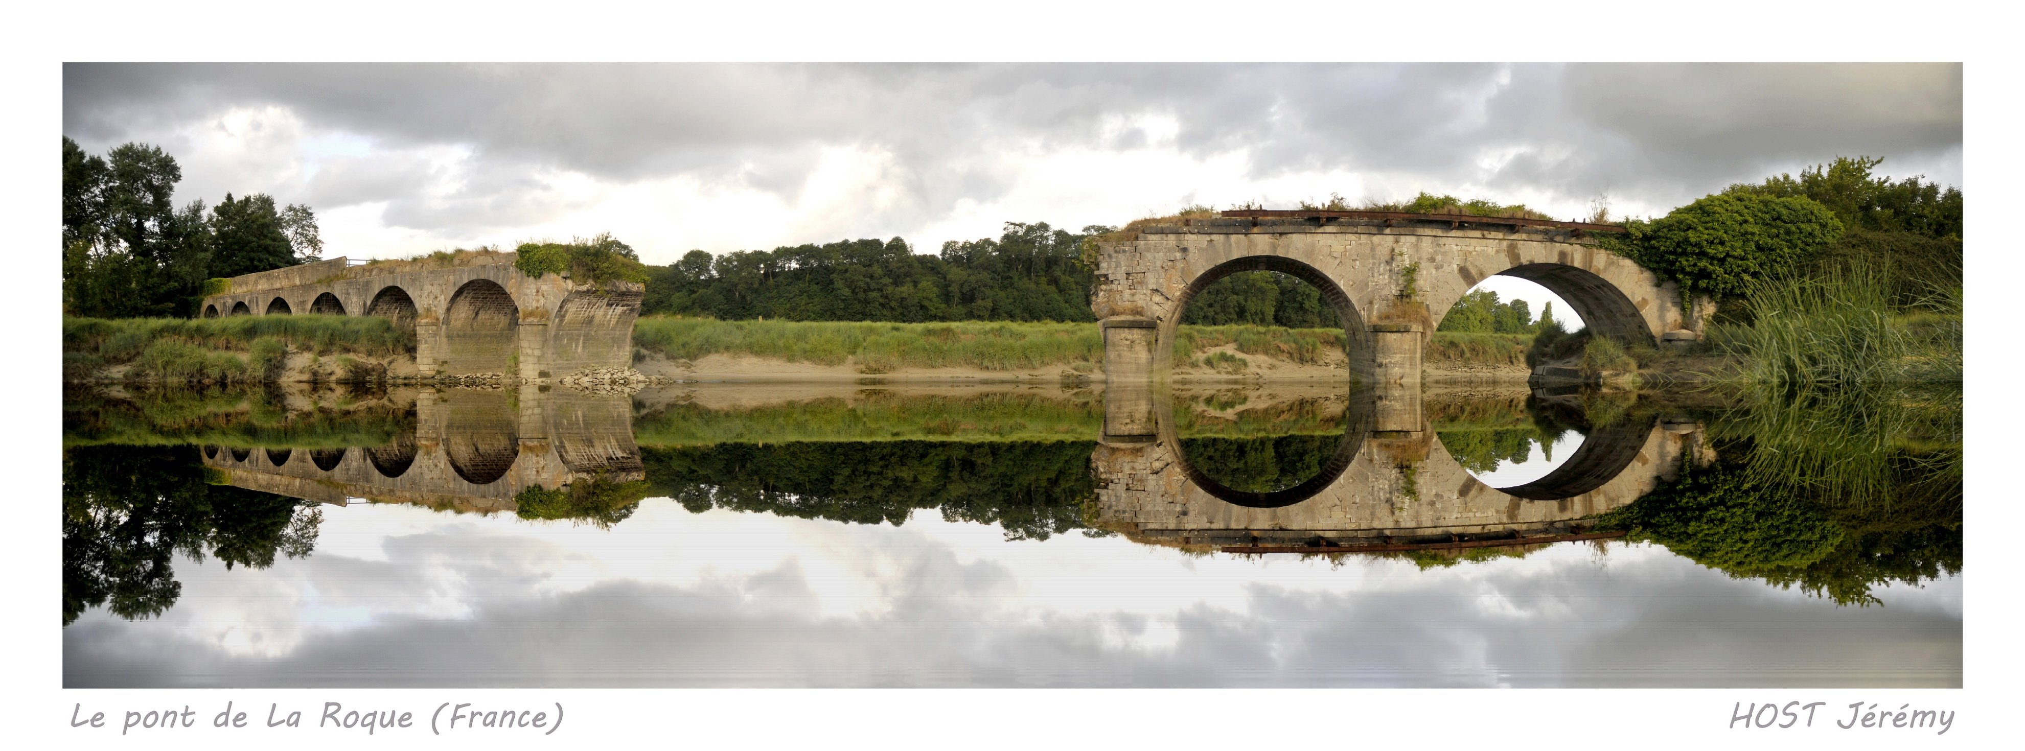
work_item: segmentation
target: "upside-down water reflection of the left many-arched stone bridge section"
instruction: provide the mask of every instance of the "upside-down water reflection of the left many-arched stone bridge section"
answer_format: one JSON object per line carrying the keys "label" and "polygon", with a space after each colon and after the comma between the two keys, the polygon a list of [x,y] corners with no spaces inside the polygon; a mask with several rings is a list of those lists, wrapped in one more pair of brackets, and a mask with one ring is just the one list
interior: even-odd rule
{"label": "upside-down water reflection of the left many-arched stone bridge section", "polygon": [[512,512],[526,488],[642,480],[632,399],[547,387],[421,391],[415,433],[332,449],[205,447],[205,466],[247,490],[344,504],[346,498]]}

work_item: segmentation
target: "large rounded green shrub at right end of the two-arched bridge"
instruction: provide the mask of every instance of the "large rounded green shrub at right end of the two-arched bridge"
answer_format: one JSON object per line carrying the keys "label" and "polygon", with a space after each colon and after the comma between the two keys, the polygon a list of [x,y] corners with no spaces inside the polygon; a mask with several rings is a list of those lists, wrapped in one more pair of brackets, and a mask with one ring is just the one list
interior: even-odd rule
{"label": "large rounded green shrub at right end of the two-arched bridge", "polygon": [[1715,194],[1671,215],[1626,223],[1604,245],[1697,294],[1739,298],[1770,275],[1790,271],[1843,233],[1843,223],[1812,198],[1754,192]]}

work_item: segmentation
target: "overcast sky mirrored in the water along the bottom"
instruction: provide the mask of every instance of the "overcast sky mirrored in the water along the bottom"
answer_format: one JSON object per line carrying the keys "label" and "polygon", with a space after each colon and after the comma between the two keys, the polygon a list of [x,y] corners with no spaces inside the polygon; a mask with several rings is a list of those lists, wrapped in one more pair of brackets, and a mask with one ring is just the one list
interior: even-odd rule
{"label": "overcast sky mirrored in the water along the bottom", "polygon": [[308,559],[174,561],[160,617],[63,630],[65,686],[1895,686],[1962,680],[1962,581],[1837,607],[1667,549],[1193,559],[691,514],[597,530],[326,508]]}

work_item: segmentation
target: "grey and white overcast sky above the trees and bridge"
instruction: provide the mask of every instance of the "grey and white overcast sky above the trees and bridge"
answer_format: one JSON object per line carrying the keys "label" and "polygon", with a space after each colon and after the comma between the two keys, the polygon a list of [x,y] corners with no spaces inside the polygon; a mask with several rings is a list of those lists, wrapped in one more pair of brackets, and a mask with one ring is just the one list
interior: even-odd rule
{"label": "grey and white overcast sky above the trees and bridge", "polygon": [[1960,184],[1960,65],[65,65],[63,132],[326,255],[612,231],[666,263],[1415,190],[1577,217],[1837,154]]}

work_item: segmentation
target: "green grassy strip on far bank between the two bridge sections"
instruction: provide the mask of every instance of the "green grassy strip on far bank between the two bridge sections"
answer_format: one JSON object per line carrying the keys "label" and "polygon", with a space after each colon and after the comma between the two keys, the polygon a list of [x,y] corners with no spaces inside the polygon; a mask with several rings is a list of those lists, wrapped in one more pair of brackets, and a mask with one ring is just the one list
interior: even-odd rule
{"label": "green grassy strip on far bank between the two bridge sections", "polygon": [[634,346],[676,360],[751,354],[788,362],[857,364],[879,374],[897,368],[1025,370],[1102,364],[1104,338],[1089,324],[1053,322],[788,322],[640,318]]}

